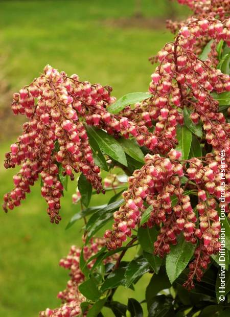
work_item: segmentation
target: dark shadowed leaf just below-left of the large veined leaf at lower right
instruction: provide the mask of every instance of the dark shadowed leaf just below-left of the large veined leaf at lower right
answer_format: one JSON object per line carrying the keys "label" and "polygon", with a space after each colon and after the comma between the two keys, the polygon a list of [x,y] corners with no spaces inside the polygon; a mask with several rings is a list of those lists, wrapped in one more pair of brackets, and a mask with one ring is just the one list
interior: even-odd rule
{"label": "dark shadowed leaf just below-left of the large veined leaf at lower right", "polygon": [[151,306],[151,299],[157,295],[160,290],[170,288],[171,284],[169,282],[168,276],[165,271],[160,269],[158,275],[153,274],[149,285],[146,288],[145,298],[147,302],[147,306]]}

